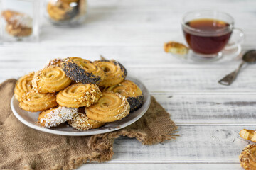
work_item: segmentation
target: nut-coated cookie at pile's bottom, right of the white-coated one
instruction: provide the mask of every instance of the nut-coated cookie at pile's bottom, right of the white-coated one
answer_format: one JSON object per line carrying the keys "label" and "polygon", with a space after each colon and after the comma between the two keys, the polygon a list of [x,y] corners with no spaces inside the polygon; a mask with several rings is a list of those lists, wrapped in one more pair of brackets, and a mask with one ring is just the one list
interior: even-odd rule
{"label": "nut-coated cookie at pile's bottom, right of the white-coated one", "polygon": [[99,128],[105,123],[92,120],[85,113],[78,113],[73,116],[72,120],[68,120],[68,124],[78,130],[90,130]]}

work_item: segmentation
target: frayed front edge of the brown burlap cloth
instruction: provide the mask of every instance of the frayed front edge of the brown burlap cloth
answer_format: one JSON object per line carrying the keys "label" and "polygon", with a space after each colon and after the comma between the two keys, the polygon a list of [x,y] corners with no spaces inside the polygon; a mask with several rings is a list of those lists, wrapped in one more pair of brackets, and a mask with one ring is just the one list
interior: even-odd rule
{"label": "frayed front edge of the brown burlap cloth", "polygon": [[[176,133],[178,127],[174,123],[174,133],[171,135],[158,135],[156,137],[149,137],[146,133],[143,132],[134,132],[133,130],[119,130],[117,132],[105,133],[104,135],[94,135],[90,138],[88,142],[88,146],[95,150],[108,150],[109,152],[106,155],[102,155],[99,152],[93,152],[92,154],[85,155],[85,157],[73,157],[70,159],[68,163],[69,167],[65,167],[63,165],[55,165],[51,167],[51,170],[59,170],[59,169],[77,169],[82,166],[82,164],[86,164],[87,162],[106,162],[112,159],[114,154],[113,152],[113,143],[114,139],[117,139],[120,136],[127,136],[129,138],[135,137],[137,140],[142,142],[143,145],[154,145],[159,142],[164,142],[165,140],[175,140],[177,136]],[[104,140],[105,142],[102,142]],[[31,166],[24,166],[24,170],[33,170]]]}

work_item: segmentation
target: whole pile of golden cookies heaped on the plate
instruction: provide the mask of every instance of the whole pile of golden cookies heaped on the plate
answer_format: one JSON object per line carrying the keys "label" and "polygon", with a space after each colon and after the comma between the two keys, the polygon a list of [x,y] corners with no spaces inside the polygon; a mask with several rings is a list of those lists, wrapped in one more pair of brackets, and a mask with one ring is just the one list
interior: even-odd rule
{"label": "whole pile of golden cookies heaped on the plate", "polygon": [[23,110],[41,111],[38,123],[45,128],[68,122],[89,130],[142,106],[141,89],[126,77],[127,70],[114,60],[55,59],[18,79],[14,95]]}

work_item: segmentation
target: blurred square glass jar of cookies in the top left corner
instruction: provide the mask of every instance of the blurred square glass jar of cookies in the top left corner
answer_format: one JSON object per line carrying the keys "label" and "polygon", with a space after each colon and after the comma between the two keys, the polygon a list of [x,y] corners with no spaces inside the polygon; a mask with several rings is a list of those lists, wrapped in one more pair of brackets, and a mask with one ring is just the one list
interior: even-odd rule
{"label": "blurred square glass jar of cookies in the top left corner", "polygon": [[1,42],[38,41],[40,1],[1,0]]}

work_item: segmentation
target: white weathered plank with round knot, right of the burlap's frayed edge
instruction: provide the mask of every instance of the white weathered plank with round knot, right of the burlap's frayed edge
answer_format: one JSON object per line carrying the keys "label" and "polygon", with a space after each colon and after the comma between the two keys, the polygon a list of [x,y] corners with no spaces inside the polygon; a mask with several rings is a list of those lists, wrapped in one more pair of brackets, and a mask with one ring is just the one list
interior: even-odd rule
{"label": "white weathered plank with round knot, right of the burlap's frayed edge", "polygon": [[243,128],[255,125],[182,125],[177,140],[151,146],[120,137],[110,164],[239,164],[238,156],[250,143],[238,135]]}

